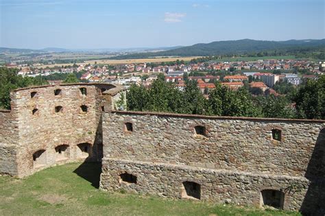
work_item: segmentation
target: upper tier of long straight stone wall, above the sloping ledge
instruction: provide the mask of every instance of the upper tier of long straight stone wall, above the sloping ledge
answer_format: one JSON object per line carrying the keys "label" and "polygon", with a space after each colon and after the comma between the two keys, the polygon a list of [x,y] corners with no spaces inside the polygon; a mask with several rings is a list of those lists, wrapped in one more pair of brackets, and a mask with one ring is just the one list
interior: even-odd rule
{"label": "upper tier of long straight stone wall, above the sloping ledge", "polygon": [[[133,132],[124,131],[125,122]],[[195,125],[206,127],[206,136],[195,135]],[[324,178],[324,127],[325,121],[119,111],[104,115],[104,156],[289,176],[305,176],[317,158],[309,176]],[[274,128],[281,130],[281,141],[272,139]],[[311,158],[315,146],[323,154]]]}

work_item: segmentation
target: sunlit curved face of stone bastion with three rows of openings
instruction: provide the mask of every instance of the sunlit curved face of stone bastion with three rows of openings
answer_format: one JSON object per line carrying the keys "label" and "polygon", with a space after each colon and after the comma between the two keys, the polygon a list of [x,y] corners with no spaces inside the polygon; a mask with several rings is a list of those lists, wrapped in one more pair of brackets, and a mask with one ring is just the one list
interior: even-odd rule
{"label": "sunlit curved face of stone bastion with three rows of openings", "polygon": [[[86,95],[82,95],[80,88],[86,88]],[[61,89],[60,95],[54,94],[56,89]],[[33,92],[36,95],[31,98]],[[84,160],[88,154],[77,146],[80,143],[89,143],[88,160],[97,160],[95,138],[101,116],[100,97],[99,88],[83,84],[14,91],[12,107],[19,121],[19,176],[55,163]],[[88,107],[87,112],[82,112],[82,105]],[[62,106],[62,110],[56,112],[56,106]],[[38,111],[33,115],[34,108]],[[59,145],[66,145],[64,154],[56,151]],[[38,150],[45,152],[35,165],[33,154]]]}

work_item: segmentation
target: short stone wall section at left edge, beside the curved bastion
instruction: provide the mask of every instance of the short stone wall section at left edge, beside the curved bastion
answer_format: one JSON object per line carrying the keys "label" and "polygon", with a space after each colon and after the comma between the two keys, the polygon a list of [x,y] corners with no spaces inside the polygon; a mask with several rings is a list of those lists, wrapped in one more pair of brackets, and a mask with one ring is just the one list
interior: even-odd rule
{"label": "short stone wall section at left edge, beside the curved bastion", "polygon": [[18,130],[10,110],[0,110],[0,174],[16,176]]}

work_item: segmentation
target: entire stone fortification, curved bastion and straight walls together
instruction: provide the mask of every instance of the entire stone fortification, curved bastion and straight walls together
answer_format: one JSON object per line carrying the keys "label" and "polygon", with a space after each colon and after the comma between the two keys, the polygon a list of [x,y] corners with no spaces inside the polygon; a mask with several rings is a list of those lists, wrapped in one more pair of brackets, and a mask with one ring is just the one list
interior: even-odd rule
{"label": "entire stone fortification, curved bastion and straight walls together", "polygon": [[325,121],[116,110],[112,84],[13,91],[0,173],[102,163],[100,189],[325,214]]}

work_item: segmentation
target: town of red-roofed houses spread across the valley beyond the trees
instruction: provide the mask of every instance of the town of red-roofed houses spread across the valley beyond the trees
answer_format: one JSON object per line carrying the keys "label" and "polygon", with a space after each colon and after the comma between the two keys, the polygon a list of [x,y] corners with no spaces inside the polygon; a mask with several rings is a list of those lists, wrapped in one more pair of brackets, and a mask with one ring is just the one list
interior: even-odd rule
{"label": "town of red-roofed houses spread across the valley beyond the trees", "polygon": [[[37,76],[51,75],[53,73],[73,73],[82,72],[82,80],[86,82],[111,82],[130,86],[138,84],[150,86],[158,78],[158,73],[165,75],[165,82],[173,82],[181,90],[184,89],[184,73],[191,71],[228,71],[224,77],[219,75],[208,75],[212,73],[203,73],[204,76],[187,76],[189,80],[196,80],[197,86],[202,93],[206,94],[212,88],[215,88],[215,81],[219,80],[221,85],[227,86],[232,90],[244,86],[251,76],[251,88],[261,88],[264,92],[276,84],[276,82],[286,81],[293,85],[299,85],[306,79],[317,79],[317,75],[322,74],[325,69],[325,62],[311,62],[304,60],[257,60],[251,62],[202,62],[189,64],[174,64],[166,66],[165,64],[117,64],[117,65],[90,65],[80,64],[73,67],[54,67],[52,69],[37,69],[25,67],[19,71],[19,75]],[[282,74],[274,74],[272,71],[280,69]],[[248,70],[251,70],[249,72]],[[309,75],[298,75],[292,73],[293,70],[308,71]],[[230,73],[231,71],[231,73]],[[259,72],[258,72],[259,71]],[[142,77],[141,77],[142,76]],[[250,80],[251,81],[251,80]]]}

